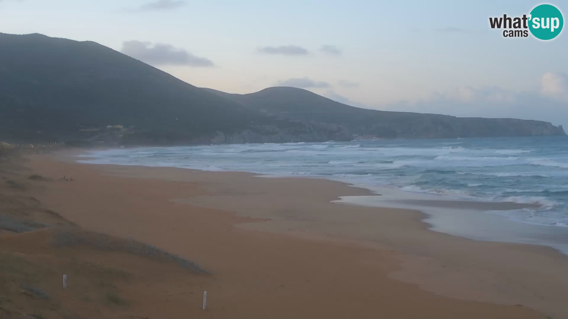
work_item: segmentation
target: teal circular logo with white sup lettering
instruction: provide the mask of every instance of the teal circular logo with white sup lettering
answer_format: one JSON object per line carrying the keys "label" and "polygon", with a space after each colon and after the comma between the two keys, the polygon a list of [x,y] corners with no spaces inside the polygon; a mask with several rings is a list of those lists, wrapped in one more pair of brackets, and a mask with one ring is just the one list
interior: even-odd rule
{"label": "teal circular logo with white sup lettering", "polygon": [[529,19],[529,30],[533,36],[541,40],[554,39],[564,26],[562,12],[553,5],[534,7]]}

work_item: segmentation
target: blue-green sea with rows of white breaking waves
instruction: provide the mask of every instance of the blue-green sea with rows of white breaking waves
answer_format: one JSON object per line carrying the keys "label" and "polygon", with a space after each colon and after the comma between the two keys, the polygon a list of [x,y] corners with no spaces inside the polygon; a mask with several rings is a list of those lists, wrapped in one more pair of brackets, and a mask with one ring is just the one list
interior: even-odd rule
{"label": "blue-green sea with rows of white breaking waves", "polygon": [[325,178],[379,194],[392,190],[429,199],[532,204],[486,213],[568,230],[566,136],[117,148],[82,157],[85,163]]}

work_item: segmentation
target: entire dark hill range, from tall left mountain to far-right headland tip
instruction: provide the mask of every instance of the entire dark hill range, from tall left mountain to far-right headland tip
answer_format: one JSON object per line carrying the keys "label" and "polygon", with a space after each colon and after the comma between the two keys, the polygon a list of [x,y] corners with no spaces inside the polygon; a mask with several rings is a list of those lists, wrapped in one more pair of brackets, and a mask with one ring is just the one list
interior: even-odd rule
{"label": "entire dark hill range, from tall left mountain to far-right headland tip", "polygon": [[293,87],[228,94],[195,87],[91,41],[0,33],[0,142],[163,145],[353,135],[565,133],[542,121],[366,110]]}

